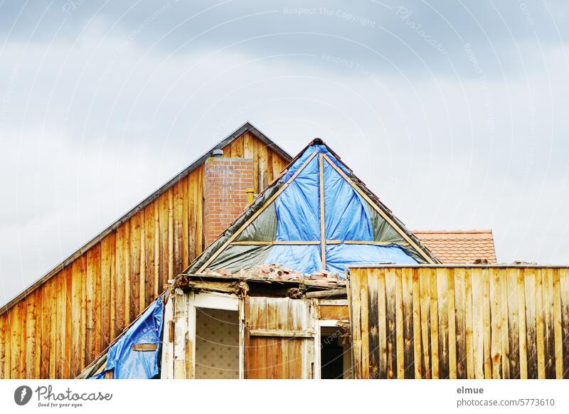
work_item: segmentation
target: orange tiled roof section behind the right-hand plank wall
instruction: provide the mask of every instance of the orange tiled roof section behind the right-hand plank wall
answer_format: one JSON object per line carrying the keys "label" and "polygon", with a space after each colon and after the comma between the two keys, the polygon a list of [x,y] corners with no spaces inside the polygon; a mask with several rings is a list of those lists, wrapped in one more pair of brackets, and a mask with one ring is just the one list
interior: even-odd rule
{"label": "orange tiled roof section behind the right-hand plank wall", "polygon": [[413,230],[440,262],[472,264],[488,260],[496,264],[496,249],[492,230]]}

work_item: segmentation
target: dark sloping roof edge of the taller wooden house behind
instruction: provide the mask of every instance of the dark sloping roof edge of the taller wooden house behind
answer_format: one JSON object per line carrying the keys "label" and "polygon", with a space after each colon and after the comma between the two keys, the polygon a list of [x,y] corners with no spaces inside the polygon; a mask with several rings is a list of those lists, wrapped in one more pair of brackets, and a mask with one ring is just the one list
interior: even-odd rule
{"label": "dark sloping roof edge of the taller wooden house behind", "polygon": [[214,147],[209,149],[208,152],[206,152],[202,156],[198,157],[198,159],[193,161],[185,169],[183,169],[178,174],[176,174],[174,177],[172,177],[169,181],[166,182],[166,184],[164,184],[159,189],[154,191],[154,193],[151,193],[150,196],[148,196],[147,198],[144,198],[144,200],[141,203],[138,203],[137,206],[134,206],[134,208],[131,208],[127,213],[125,213],[117,221],[115,221],[114,223],[109,225],[107,228],[105,228],[105,230],[102,230],[101,233],[97,234],[94,238],[92,238],[90,241],[85,243],[85,245],[83,245],[79,250],[76,250],[75,253],[72,253],[71,255],[69,255],[68,258],[66,258],[65,260],[60,262],[58,265],[55,265],[55,267],[53,267],[49,272],[47,272],[42,277],[40,277],[38,280],[36,280],[31,285],[26,287],[26,289],[24,289],[21,293],[17,294],[16,297],[14,297],[13,299],[10,299],[8,302],[6,302],[6,304],[2,305],[0,307],[0,315],[8,312],[9,309],[14,307],[15,304],[20,302],[22,299],[25,299],[28,294],[30,294],[31,292],[36,290],[36,288],[38,288],[39,286],[43,285],[43,283],[45,283],[51,277],[53,277],[58,272],[60,272],[60,270],[63,270],[65,267],[70,265],[71,262],[73,262],[74,260],[79,258],[81,255],[83,255],[83,253],[87,253],[87,250],[89,250],[94,245],[99,243],[107,235],[109,235],[113,231],[117,230],[117,228],[119,228],[120,225],[122,225],[123,223],[128,221],[135,214],[142,211],[142,209],[144,209],[146,206],[148,206],[152,201],[156,200],[156,198],[159,198],[159,196],[161,196],[165,191],[167,191],[172,186],[174,186],[174,184],[176,184],[178,181],[180,181],[181,179],[184,179],[184,177],[186,177],[188,174],[190,174],[191,171],[193,171],[198,166],[203,164],[206,161],[206,159],[208,159],[208,157],[211,156],[211,152],[214,149],[221,149],[223,147],[226,147],[228,144],[230,144],[230,142],[237,139],[241,135],[245,134],[245,132],[250,132],[251,134],[253,134],[253,136],[255,136],[257,139],[259,139],[261,142],[265,143],[267,145],[267,147],[270,147],[270,149],[277,152],[277,154],[282,156],[287,161],[292,159],[292,155],[290,155],[288,152],[286,152],[285,149],[282,149],[277,144],[275,144],[275,142],[273,142],[269,137],[267,137],[265,134],[260,132],[260,130],[257,129],[255,126],[253,126],[249,121],[245,122],[238,129],[235,129],[235,131],[233,131],[227,137],[225,137],[220,142],[218,142],[218,144],[216,144]]}

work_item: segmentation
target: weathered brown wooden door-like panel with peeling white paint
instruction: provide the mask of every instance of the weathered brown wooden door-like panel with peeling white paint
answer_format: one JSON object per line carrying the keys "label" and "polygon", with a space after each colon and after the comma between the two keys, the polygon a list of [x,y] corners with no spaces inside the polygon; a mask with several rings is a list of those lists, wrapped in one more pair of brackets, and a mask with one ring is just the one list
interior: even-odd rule
{"label": "weathered brown wooden door-like panel with peeling white paint", "polygon": [[245,378],[313,378],[310,299],[245,297]]}

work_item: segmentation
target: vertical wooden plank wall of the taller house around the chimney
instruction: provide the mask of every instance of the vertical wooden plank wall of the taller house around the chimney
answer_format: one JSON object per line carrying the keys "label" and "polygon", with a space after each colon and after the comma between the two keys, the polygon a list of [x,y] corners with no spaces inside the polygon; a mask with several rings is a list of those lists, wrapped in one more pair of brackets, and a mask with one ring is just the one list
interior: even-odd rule
{"label": "vertical wooden plank wall of the taller house around the chimney", "polygon": [[[287,160],[245,132],[259,192]],[[0,309],[0,378],[75,377],[203,248],[203,164],[38,286]],[[46,243],[50,243],[46,240]]]}

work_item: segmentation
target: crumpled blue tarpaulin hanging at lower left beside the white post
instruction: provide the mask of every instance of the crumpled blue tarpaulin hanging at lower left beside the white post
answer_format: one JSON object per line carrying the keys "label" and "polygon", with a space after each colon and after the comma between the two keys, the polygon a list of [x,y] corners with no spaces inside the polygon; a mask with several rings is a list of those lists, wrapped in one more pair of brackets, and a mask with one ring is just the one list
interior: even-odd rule
{"label": "crumpled blue tarpaulin hanging at lower left beside the white post", "polygon": [[[105,378],[112,371],[115,379],[149,379],[159,373],[159,351],[162,331],[162,299],[159,297],[148,307],[107,353],[105,369],[90,377]],[[134,351],[134,344],[156,344],[155,351]]]}

